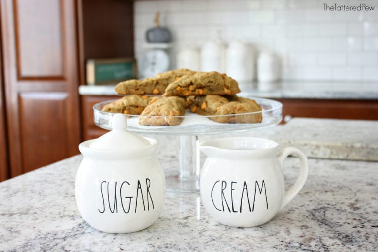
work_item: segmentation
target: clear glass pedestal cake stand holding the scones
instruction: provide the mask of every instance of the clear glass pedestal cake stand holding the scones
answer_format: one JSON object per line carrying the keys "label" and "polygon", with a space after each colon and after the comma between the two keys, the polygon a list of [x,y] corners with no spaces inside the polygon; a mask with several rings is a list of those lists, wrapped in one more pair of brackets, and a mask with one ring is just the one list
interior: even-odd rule
{"label": "clear glass pedestal cake stand holding the scones", "polygon": [[[185,116],[181,116],[183,121],[177,126],[145,126],[139,124],[139,115],[127,115],[127,130],[134,133],[176,135],[180,138],[178,150],[179,167],[178,176],[174,182],[167,184],[167,190],[191,192],[199,190],[199,136],[217,135],[225,133],[240,133],[254,129],[271,127],[279,124],[282,120],[282,104],[275,100],[247,97],[254,99],[262,108],[262,111],[244,114],[222,115],[222,116],[202,116],[186,111]],[[101,109],[114,100],[97,103],[93,106],[95,124],[103,129],[111,130],[111,118],[115,113],[105,112]],[[218,119],[229,119],[231,117],[255,116],[262,114],[261,123],[218,123],[211,120],[211,117]],[[160,116],[148,116],[159,120]],[[164,116],[164,118],[168,118]],[[219,121],[219,120],[217,120]],[[225,120],[226,121],[226,120]],[[232,120],[231,120],[232,121]]]}

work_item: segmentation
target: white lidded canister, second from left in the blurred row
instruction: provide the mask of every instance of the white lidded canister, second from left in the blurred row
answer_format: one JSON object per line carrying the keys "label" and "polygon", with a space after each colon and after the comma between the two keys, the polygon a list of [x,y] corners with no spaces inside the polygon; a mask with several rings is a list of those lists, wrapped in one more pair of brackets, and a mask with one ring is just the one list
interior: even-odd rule
{"label": "white lidded canister, second from left in the blurred row", "polygon": [[226,72],[226,46],[220,40],[210,40],[202,46],[201,71]]}

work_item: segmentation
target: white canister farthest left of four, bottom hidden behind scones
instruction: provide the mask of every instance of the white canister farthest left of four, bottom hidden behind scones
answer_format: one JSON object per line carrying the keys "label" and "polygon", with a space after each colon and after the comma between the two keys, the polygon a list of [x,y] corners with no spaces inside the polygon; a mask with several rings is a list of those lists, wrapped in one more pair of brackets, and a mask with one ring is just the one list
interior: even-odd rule
{"label": "white canister farthest left of four, bottom hidden behind scones", "polygon": [[198,48],[186,46],[177,53],[177,68],[187,68],[192,71],[201,70],[201,55]]}

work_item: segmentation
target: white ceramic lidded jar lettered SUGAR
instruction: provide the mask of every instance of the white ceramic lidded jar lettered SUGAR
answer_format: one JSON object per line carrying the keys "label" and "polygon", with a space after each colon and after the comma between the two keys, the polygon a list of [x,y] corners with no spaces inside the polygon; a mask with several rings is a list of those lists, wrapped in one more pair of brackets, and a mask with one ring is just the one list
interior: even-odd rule
{"label": "white ceramic lidded jar lettered SUGAR", "polygon": [[76,204],[83,219],[107,233],[151,226],[165,201],[165,176],[155,151],[158,141],[126,130],[122,114],[113,130],[79,145],[84,155],[76,175]]}

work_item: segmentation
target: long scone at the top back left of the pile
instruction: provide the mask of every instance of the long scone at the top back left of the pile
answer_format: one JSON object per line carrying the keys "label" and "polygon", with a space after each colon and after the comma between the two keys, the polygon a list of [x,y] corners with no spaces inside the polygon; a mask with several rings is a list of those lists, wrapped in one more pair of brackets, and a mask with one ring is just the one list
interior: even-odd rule
{"label": "long scone at the top back left of the pile", "polygon": [[120,95],[161,95],[168,84],[180,79],[184,75],[193,75],[189,69],[177,69],[143,80],[127,80],[120,82],[114,89]]}

